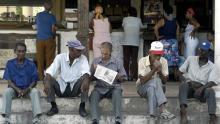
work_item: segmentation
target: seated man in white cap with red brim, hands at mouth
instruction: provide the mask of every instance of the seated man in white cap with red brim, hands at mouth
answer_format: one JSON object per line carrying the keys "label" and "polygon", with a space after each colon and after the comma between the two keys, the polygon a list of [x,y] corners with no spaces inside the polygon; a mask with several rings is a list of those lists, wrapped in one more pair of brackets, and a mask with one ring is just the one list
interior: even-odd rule
{"label": "seated man in white cap with red brim, hands at mouth", "polygon": [[169,72],[167,60],[161,57],[163,53],[163,44],[154,41],[151,43],[149,55],[139,60],[137,92],[148,100],[151,117],[157,116],[156,110],[159,107],[159,117],[170,120],[175,116],[165,108],[167,98],[163,92],[162,83],[166,83]]}

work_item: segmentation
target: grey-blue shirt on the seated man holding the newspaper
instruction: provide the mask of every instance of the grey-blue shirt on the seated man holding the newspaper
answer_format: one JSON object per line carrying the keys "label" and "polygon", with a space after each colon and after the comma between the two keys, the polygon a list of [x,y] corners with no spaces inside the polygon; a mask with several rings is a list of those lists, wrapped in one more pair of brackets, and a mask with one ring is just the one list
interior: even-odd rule
{"label": "grey-blue shirt on the seated man holding the newspaper", "polygon": [[[92,66],[94,65],[101,65],[104,66],[106,68],[109,68],[111,70],[114,70],[116,72],[118,72],[119,75],[121,75],[124,79],[127,79],[127,75],[125,72],[125,69],[122,65],[121,62],[119,62],[116,58],[111,57],[109,62],[107,62],[106,64],[102,61],[101,57],[95,58],[93,60]],[[94,68],[91,68],[91,72],[95,72],[95,70],[93,70]],[[102,94],[105,94],[109,91],[110,88],[120,88],[121,89],[121,85],[120,82],[118,82],[117,80],[115,80],[112,84],[112,86],[110,86],[108,83],[97,79],[96,80],[96,84],[95,84],[95,88]]]}

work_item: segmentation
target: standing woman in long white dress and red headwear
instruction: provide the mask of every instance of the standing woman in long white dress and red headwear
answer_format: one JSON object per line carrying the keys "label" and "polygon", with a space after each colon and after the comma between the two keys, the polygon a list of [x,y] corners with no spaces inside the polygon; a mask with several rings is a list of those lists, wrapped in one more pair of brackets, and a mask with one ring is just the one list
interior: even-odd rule
{"label": "standing woman in long white dress and red headwear", "polygon": [[196,55],[196,47],[199,43],[198,38],[195,36],[195,32],[200,27],[200,24],[197,22],[194,16],[195,11],[192,8],[188,8],[186,10],[186,19],[188,19],[188,25],[186,26],[184,33],[184,42],[186,45],[184,50],[185,58]]}

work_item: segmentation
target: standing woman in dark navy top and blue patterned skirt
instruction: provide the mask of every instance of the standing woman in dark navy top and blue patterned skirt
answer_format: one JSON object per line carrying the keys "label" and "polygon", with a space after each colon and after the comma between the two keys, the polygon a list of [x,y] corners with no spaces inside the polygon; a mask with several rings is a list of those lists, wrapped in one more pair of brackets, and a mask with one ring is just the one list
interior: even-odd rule
{"label": "standing woman in dark navy top and blue patterned skirt", "polygon": [[160,19],[154,26],[154,33],[157,40],[164,45],[164,57],[168,61],[170,69],[177,68],[179,64],[178,37],[179,25],[173,17],[173,8],[164,7],[164,18]]}

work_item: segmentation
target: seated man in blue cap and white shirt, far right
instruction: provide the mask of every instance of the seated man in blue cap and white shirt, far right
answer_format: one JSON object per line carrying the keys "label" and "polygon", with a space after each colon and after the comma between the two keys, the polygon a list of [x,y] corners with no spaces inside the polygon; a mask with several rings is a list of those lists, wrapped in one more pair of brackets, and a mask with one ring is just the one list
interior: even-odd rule
{"label": "seated man in blue cap and white shirt, far right", "polygon": [[216,122],[216,98],[212,89],[219,82],[219,71],[217,67],[209,61],[209,42],[202,42],[199,45],[199,56],[190,56],[179,68],[181,85],[179,87],[180,115],[182,123],[187,122],[186,107],[187,98],[197,98],[201,102],[208,103],[210,123]]}

